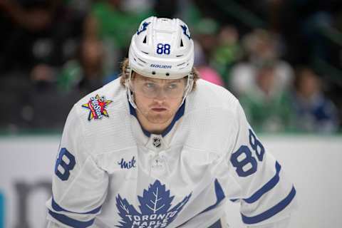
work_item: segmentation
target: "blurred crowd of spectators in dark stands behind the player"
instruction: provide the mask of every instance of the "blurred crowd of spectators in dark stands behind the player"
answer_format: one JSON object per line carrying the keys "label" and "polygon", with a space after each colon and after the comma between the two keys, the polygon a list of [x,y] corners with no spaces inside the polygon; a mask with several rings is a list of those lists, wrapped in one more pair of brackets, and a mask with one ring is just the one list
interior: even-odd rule
{"label": "blurred crowd of spectators in dark stands behind the player", "polygon": [[0,0],[0,129],[61,130],[73,103],[118,78],[152,15],[190,26],[200,76],[255,130],[341,131],[338,0]]}

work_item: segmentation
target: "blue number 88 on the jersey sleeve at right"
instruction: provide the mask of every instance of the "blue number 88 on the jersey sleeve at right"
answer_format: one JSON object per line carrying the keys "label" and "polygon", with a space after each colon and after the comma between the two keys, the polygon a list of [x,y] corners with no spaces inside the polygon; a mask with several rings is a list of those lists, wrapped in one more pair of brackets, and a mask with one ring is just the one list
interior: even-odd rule
{"label": "blue number 88 on the jersey sleeve at right", "polygon": [[230,157],[230,162],[236,168],[237,175],[239,177],[247,177],[257,172],[258,162],[262,162],[264,158],[264,146],[254,135],[253,131],[249,129],[249,145],[251,145],[252,150],[254,150],[257,155],[257,159],[253,157],[252,151],[247,145],[242,145],[239,149],[232,154]]}

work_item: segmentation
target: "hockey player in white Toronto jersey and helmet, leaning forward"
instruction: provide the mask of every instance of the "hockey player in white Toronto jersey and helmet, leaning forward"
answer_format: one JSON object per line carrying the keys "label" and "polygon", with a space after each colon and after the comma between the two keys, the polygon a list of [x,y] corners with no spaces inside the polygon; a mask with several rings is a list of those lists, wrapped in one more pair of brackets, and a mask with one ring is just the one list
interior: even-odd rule
{"label": "hockey player in white Toronto jersey and helmet, leaning forward", "polygon": [[288,227],[296,190],[237,98],[199,79],[180,19],[150,17],[120,79],[76,103],[63,130],[48,227]]}

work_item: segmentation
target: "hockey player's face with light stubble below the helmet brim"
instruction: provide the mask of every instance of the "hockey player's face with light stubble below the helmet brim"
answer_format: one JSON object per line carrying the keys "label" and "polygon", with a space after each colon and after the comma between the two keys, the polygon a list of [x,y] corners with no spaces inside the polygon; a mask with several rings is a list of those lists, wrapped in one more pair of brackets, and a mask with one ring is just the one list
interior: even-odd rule
{"label": "hockey player's face with light stubble below the helmet brim", "polygon": [[155,79],[134,73],[131,88],[138,118],[146,130],[164,130],[171,123],[182,102],[185,84],[185,78]]}

